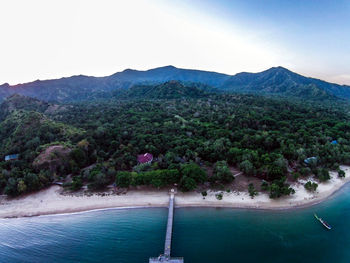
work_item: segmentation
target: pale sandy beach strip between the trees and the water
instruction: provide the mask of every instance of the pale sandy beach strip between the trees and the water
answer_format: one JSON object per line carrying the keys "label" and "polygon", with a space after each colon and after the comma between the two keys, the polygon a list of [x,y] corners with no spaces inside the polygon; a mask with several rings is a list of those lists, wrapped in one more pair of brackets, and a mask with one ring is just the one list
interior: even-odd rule
{"label": "pale sandy beach strip between the trees and the water", "polygon": [[[345,171],[345,178],[338,178],[337,173],[330,172],[331,179],[326,183],[319,183],[317,191],[310,193],[305,190],[304,183],[313,178],[300,179],[291,186],[295,194],[279,199],[270,199],[266,193],[259,193],[252,199],[248,192],[208,191],[203,199],[201,193],[189,192],[176,195],[176,207],[226,207],[263,210],[283,210],[302,208],[318,204],[327,200],[335,192],[350,182],[350,166],[341,166]],[[120,195],[62,195],[62,188],[51,186],[37,193],[11,199],[0,203],[0,218],[31,217],[41,215],[71,214],[87,211],[128,208],[167,207],[168,191],[128,191]],[[222,200],[216,198],[222,193]]]}

